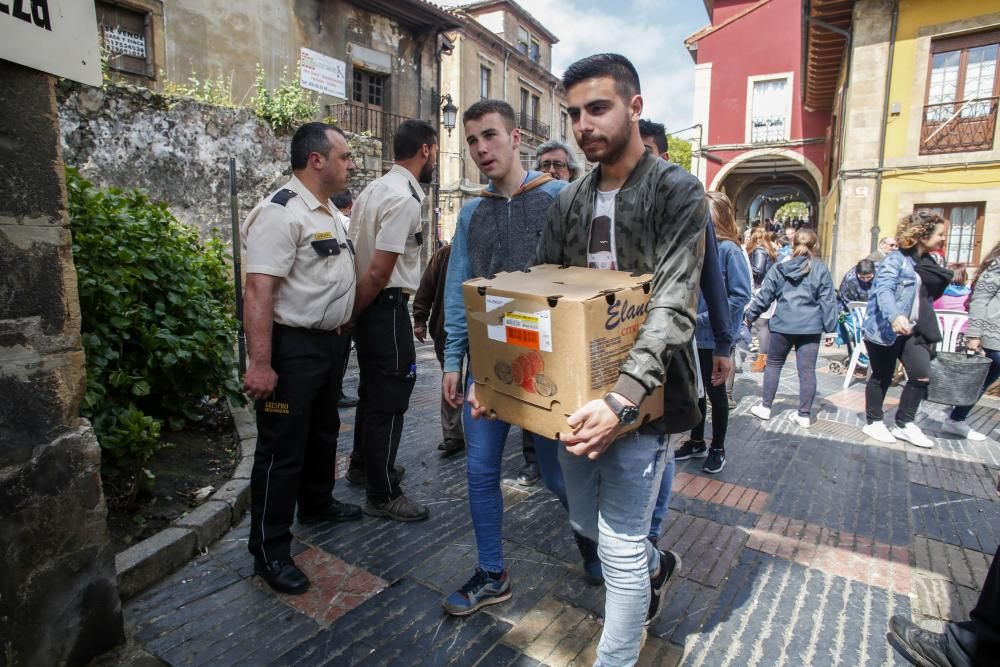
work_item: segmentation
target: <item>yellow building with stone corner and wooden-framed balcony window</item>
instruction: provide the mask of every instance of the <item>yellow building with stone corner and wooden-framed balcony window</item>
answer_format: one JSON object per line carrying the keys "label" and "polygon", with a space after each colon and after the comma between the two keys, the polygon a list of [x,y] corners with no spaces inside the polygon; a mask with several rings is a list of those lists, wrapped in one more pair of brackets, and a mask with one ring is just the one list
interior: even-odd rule
{"label": "yellow building with stone corner and wooden-framed balcony window", "polygon": [[949,262],[978,264],[1000,242],[1000,0],[807,12],[804,101],[833,118],[819,229],[837,274],[920,207],[948,221]]}

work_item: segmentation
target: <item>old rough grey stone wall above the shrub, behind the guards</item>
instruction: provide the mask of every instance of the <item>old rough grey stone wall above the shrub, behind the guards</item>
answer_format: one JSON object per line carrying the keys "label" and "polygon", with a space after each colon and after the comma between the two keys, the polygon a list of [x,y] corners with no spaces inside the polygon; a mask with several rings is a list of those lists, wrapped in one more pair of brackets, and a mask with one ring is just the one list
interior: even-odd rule
{"label": "old rough grey stone wall above the shrub, behind the guards", "polygon": [[[229,158],[236,158],[240,216],[291,173],[290,135],[247,109],[172,98],[144,88],[58,87],[63,160],[100,186],[142,187],[182,222],[229,239]],[[377,139],[349,135],[355,194],[382,174]]]}

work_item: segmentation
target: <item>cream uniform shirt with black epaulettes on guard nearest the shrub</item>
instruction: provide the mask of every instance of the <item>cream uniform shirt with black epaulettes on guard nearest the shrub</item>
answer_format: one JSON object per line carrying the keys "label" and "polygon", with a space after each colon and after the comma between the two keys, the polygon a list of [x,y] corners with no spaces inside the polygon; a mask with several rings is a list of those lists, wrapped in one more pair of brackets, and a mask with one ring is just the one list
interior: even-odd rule
{"label": "cream uniform shirt with black epaulettes on guard nearest the shrub", "polygon": [[240,226],[246,272],[282,278],[274,297],[278,324],[336,329],[350,319],[356,289],[340,213],[294,176],[282,189],[296,196],[281,205],[271,201],[272,192]]}

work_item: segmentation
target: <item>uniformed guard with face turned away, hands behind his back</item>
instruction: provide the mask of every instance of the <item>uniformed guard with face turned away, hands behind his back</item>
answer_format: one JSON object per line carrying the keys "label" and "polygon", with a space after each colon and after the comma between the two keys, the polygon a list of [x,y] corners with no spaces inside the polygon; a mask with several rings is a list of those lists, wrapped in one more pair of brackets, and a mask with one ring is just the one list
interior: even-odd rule
{"label": "uniformed guard with face turned away, hands behind his back", "polygon": [[413,327],[406,304],[420,285],[421,182],[434,173],[437,133],[423,120],[406,120],[392,142],[395,164],[368,184],[354,203],[351,238],[358,249],[358,408],[348,473],[364,472],[364,512],[395,521],[430,513],[407,498],[395,472],[403,414],[417,378]]}

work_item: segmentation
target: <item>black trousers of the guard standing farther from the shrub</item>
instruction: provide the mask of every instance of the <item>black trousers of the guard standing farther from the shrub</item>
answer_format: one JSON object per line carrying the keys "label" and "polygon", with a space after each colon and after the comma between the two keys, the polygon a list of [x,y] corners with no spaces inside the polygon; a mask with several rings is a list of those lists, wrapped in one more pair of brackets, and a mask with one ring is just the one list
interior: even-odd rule
{"label": "black trousers of the guard standing farther from the shrub", "polygon": [[354,331],[361,375],[354,457],[364,461],[373,503],[402,495],[393,466],[417,379],[413,326],[406,310],[409,298],[398,287],[382,290],[361,313]]}

